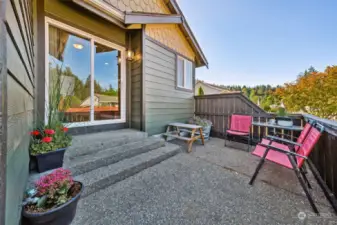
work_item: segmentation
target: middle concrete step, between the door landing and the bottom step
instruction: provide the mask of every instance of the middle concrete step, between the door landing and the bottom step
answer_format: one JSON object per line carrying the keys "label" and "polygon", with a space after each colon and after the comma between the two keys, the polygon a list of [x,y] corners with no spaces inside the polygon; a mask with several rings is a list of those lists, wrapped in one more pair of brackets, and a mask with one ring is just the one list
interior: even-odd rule
{"label": "middle concrete step, between the door landing and the bottom step", "polygon": [[75,176],[163,147],[164,145],[165,141],[163,139],[150,137],[141,141],[106,148],[90,155],[82,155],[65,160],[63,167],[70,169]]}

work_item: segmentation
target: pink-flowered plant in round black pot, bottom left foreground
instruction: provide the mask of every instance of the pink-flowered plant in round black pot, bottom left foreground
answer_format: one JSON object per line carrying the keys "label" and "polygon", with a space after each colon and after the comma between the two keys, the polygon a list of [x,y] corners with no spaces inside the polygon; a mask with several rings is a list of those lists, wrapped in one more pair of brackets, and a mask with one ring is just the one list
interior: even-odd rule
{"label": "pink-flowered plant in round black pot, bottom left foreground", "polygon": [[27,191],[22,215],[31,225],[69,225],[82,192],[83,184],[74,181],[69,170],[57,169]]}

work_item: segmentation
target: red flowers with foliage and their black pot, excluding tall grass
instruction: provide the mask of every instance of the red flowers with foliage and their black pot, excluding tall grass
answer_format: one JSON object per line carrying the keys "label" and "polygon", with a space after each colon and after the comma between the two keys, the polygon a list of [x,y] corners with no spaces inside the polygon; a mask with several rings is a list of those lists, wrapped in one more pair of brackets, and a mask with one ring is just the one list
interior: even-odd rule
{"label": "red flowers with foliage and their black pot, excluding tall grass", "polygon": [[64,153],[72,140],[67,131],[60,123],[54,129],[45,127],[31,132],[30,155],[39,173],[62,167]]}

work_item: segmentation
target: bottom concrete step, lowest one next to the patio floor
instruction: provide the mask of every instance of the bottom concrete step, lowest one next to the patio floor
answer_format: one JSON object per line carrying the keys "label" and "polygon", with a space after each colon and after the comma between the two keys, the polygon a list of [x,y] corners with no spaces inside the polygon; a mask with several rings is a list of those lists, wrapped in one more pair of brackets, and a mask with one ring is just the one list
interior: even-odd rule
{"label": "bottom concrete step, lowest one next to the patio floor", "polygon": [[166,143],[164,147],[75,176],[74,180],[83,182],[85,197],[154,166],[180,151],[180,146]]}

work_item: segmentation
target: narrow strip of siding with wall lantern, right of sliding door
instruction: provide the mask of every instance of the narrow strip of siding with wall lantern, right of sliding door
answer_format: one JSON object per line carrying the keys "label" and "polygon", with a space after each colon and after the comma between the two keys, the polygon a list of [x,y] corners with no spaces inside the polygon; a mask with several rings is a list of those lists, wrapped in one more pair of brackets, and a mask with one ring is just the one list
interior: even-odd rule
{"label": "narrow strip of siding with wall lantern, right of sliding door", "polygon": [[131,62],[131,128],[142,129],[142,37],[141,32],[131,35],[131,46],[135,51],[135,60]]}

